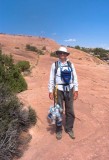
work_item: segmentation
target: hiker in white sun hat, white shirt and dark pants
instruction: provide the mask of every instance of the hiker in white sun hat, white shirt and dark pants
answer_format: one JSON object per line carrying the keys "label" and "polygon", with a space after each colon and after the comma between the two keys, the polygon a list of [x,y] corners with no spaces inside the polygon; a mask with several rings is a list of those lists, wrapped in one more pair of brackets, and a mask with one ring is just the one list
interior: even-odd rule
{"label": "hiker in white sun hat, white shirt and dark pants", "polygon": [[[65,131],[74,139],[74,120],[75,114],[73,109],[73,100],[78,98],[78,81],[74,65],[67,59],[70,53],[66,47],[61,46],[57,51],[58,61],[53,63],[50,71],[49,79],[49,98],[54,100],[57,98],[57,104],[63,109],[63,101],[65,101]],[[62,123],[56,123],[56,138],[62,138]]]}

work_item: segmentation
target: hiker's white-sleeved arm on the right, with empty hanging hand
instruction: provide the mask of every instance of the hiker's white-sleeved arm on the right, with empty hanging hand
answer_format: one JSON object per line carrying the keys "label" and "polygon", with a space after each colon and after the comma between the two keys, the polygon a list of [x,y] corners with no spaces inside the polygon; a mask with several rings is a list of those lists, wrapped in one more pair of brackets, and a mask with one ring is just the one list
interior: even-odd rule
{"label": "hiker's white-sleeved arm on the right, with empty hanging hand", "polygon": [[77,78],[77,74],[76,74],[76,70],[74,65],[72,64],[72,69],[73,69],[73,76],[74,76],[74,93],[73,93],[73,99],[76,100],[78,98],[78,78]]}

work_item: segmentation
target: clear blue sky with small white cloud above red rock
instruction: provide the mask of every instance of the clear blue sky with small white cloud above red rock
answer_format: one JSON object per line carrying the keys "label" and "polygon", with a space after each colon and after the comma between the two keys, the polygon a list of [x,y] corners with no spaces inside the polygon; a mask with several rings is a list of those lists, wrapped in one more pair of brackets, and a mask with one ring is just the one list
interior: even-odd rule
{"label": "clear blue sky with small white cloud above red rock", "polygon": [[109,49],[109,0],[0,0],[0,32]]}

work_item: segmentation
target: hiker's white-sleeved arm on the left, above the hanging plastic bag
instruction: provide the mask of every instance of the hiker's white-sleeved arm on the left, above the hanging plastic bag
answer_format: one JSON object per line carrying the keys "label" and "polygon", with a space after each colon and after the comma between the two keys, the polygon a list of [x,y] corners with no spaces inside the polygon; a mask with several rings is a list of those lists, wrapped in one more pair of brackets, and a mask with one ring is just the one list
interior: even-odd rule
{"label": "hiker's white-sleeved arm on the left, above the hanging plastic bag", "polygon": [[55,64],[53,63],[51,66],[51,71],[50,71],[50,78],[49,78],[49,84],[48,84],[48,89],[49,89],[49,98],[53,100],[53,90],[54,90],[54,70],[55,70]]}

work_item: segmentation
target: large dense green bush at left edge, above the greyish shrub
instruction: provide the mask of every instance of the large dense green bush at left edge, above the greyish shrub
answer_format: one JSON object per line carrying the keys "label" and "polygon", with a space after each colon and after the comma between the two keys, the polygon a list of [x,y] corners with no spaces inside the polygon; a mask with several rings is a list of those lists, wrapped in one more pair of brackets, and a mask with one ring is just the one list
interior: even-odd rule
{"label": "large dense green bush at left edge, above the greyish shrub", "polygon": [[27,83],[18,67],[13,63],[12,56],[0,53],[0,83],[5,83],[13,92],[27,89]]}

